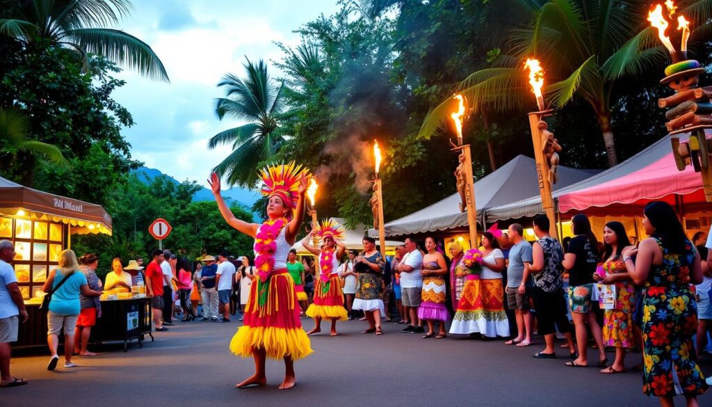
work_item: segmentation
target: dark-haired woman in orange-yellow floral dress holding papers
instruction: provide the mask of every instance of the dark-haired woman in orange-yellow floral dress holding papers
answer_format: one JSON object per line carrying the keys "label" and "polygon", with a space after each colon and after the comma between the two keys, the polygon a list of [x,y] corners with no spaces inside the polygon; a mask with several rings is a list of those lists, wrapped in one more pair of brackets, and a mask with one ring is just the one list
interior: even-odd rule
{"label": "dark-haired woman in orange-yellow floral dress holding papers", "polygon": [[608,222],[603,227],[604,251],[601,257],[605,274],[595,274],[594,278],[602,284],[614,284],[616,302],[613,309],[604,310],[603,343],[616,349],[616,359],[611,366],[601,373],[620,373],[625,371],[626,349],[635,346],[633,339],[633,308],[635,287],[631,283],[628,270],[623,263],[621,253],[630,246],[627,232],[621,222]]}

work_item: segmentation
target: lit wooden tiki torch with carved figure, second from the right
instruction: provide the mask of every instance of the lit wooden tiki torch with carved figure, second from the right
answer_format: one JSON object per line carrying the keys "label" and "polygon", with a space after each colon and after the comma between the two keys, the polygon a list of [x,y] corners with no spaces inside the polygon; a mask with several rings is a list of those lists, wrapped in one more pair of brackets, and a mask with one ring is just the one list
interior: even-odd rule
{"label": "lit wooden tiki torch with carved figure, second from the right", "polygon": [[529,84],[532,93],[536,97],[536,112],[530,112],[529,127],[532,133],[532,143],[534,145],[534,159],[536,161],[536,173],[539,184],[539,194],[541,195],[541,205],[544,208],[546,217],[552,225],[551,235],[557,237],[556,216],[554,214],[554,199],[551,195],[551,186],[557,181],[557,165],[559,163],[560,145],[554,138],[553,133],[548,130],[548,124],[543,120],[545,116],[551,115],[553,110],[545,110],[544,96],[544,70],[537,59],[527,59],[524,68],[529,70]]}

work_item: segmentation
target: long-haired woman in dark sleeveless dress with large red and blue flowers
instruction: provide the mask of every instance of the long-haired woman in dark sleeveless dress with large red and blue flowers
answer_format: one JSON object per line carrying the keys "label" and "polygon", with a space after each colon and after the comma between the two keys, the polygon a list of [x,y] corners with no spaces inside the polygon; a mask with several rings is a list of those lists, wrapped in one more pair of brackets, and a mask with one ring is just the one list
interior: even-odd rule
{"label": "long-haired woman in dark sleeveless dress with large red and blue flowers", "polygon": [[650,237],[622,252],[633,282],[645,285],[643,391],[659,397],[662,406],[674,406],[678,394],[688,406],[698,406],[697,396],[708,388],[692,343],[697,304],[690,284],[702,282],[700,255],[669,204],[650,202],[643,214]]}

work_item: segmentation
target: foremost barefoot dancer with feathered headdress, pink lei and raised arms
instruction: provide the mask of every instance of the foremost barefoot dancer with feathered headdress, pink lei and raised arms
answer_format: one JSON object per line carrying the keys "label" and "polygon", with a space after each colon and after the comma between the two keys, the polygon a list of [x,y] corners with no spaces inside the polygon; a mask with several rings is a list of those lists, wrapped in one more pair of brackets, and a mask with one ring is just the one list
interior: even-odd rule
{"label": "foremost barefoot dancer with feathered headdress, pink lei and raised arms", "polygon": [[312,353],[309,338],[299,319],[294,283],[286,267],[303,217],[303,200],[308,171],[289,163],[261,171],[262,194],[268,197],[267,216],[262,225],[237,219],[220,195],[220,178],[213,173],[209,183],[220,213],[228,225],[255,238],[256,283],[251,284],[244,326],[230,342],[237,356],[253,356],[255,374],[236,387],[263,386],[267,382],[265,360],[284,359],[286,374],[279,388],[296,383],[294,361]]}

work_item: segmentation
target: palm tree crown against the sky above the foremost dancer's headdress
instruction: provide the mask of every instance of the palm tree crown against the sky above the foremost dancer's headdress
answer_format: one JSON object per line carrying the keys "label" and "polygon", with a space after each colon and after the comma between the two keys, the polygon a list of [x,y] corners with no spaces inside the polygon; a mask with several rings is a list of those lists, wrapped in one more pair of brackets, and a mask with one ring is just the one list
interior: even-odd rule
{"label": "palm tree crown against the sky above the foremost dancer's headdress", "polygon": [[262,60],[253,64],[248,59],[244,68],[246,78],[227,73],[218,83],[226,97],[217,99],[215,112],[220,120],[229,117],[247,123],[214,135],[208,148],[231,144],[233,152],[214,171],[226,175],[231,185],[252,187],[259,163],[271,158],[284,141],[277,131],[277,115],[284,108],[283,84],[273,84]]}

